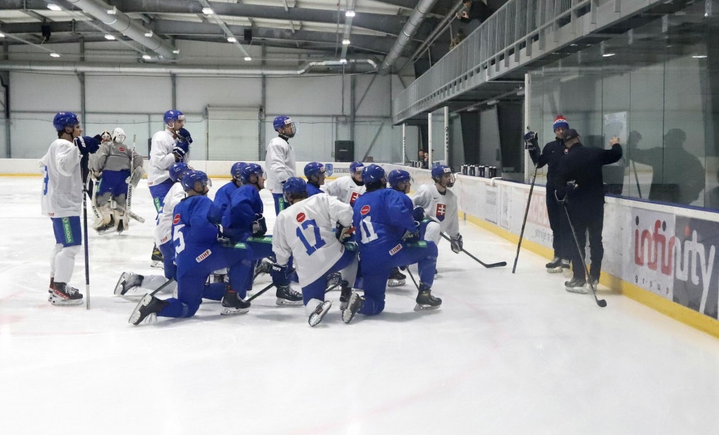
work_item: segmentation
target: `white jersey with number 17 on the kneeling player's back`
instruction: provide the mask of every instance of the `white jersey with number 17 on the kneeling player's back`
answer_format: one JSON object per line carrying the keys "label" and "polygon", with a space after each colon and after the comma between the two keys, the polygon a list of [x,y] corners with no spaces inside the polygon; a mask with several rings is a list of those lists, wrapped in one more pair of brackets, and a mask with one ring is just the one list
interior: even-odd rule
{"label": "white jersey with number 17 on the kneeling player's back", "polygon": [[352,207],[328,194],[312,195],[278,215],[272,248],[278,264],[287,264],[294,256],[302,287],[326,274],[342,257],[344,245],[332,231],[337,222],[352,225]]}

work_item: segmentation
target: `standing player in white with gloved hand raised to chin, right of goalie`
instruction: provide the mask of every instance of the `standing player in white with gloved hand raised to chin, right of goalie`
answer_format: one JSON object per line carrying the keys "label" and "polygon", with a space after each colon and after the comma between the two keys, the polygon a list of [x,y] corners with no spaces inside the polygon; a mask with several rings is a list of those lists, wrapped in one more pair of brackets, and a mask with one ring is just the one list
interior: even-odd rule
{"label": "standing player in white with gloved hand raised to chin, right of goalie", "polygon": [[[147,171],[147,186],[150,187],[155,210],[160,212],[162,199],[168,194],[173,181],[170,180],[168,169],[173,163],[190,160],[189,151],[192,137],[185,128],[185,115],[179,110],[168,110],[162,117],[165,128],[152,135],[150,145],[150,166]],[[152,261],[162,261],[157,246],[152,251]]]}

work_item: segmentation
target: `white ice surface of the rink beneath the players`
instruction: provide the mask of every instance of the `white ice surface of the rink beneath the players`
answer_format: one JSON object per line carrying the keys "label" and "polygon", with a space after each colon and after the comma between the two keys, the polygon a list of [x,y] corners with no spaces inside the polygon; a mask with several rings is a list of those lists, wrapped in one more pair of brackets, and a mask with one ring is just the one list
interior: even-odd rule
{"label": "white ice surface of the rink beneath the players", "polygon": [[[227,180],[214,181],[211,197]],[[0,177],[1,434],[719,432],[716,338],[601,287],[598,308],[529,251],[513,275],[516,246],[470,223],[464,248],[509,266],[485,269],[442,241],[436,311],[413,311],[408,279],[384,313],[349,325],[339,292],[316,328],[267,292],[245,315],[203,302],[195,318],[134,327],[116,280],[162,273],[143,180],[133,210],[147,222],[90,234],[91,310],[53,307],[40,182]],[[85,293],[82,255],[71,284]]]}

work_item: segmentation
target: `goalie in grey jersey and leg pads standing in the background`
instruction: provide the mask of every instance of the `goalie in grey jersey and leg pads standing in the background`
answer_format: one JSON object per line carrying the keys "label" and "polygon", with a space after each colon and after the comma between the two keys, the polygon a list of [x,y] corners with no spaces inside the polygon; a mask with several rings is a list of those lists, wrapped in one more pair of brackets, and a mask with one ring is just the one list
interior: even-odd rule
{"label": "goalie in grey jersey and leg pads standing in the background", "polygon": [[134,153],[134,148],[124,145],[124,140],[125,132],[120,127],[112,130],[111,135],[104,132],[100,149],[90,160],[91,174],[99,179],[93,195],[93,206],[99,217],[93,223],[93,229],[100,234],[127,230],[130,218],[130,210],[126,210],[128,187],[137,187],[142,178],[142,156]]}

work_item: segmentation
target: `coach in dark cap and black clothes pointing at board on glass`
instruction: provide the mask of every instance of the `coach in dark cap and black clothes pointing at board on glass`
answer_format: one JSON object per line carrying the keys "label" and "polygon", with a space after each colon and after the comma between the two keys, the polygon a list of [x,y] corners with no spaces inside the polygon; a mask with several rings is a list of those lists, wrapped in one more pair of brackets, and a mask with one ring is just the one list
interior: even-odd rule
{"label": "coach in dark cap and black clothes pointing at board on glass", "polygon": [[[569,212],[569,218],[577,234],[577,243],[570,251],[574,277],[564,283],[568,292],[586,293],[584,264],[580,252],[585,252],[587,233],[589,234],[590,282],[597,284],[602,272],[604,247],[602,246],[602,228],[604,225],[604,180],[602,166],[615,163],[622,158],[619,139],[614,137],[609,150],[588,148],[582,145],[577,130],[570,128],[564,132],[564,145],[567,156],[562,158],[557,175],[557,201]],[[567,238],[573,239],[571,229],[567,228]],[[579,246],[577,246],[577,244]]]}

